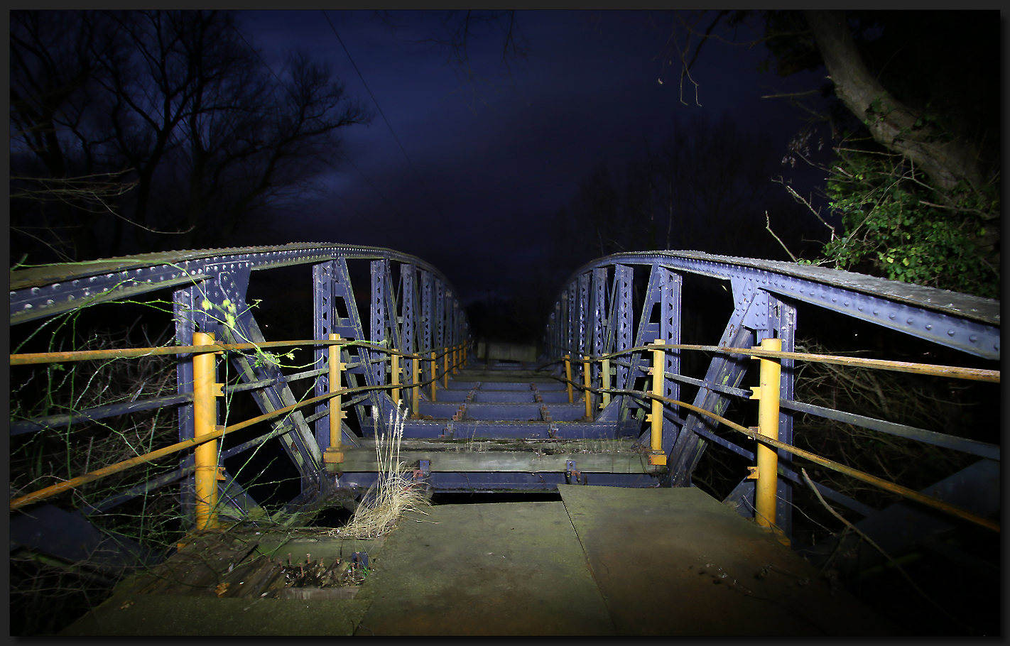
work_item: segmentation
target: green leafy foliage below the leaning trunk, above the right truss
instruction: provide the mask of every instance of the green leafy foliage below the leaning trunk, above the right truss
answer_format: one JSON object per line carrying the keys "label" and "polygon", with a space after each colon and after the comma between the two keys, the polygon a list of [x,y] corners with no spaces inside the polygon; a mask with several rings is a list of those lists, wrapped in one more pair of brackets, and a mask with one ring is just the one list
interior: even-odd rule
{"label": "green leafy foliage below the leaning trunk, above the right truss", "polygon": [[893,281],[999,298],[998,255],[973,241],[999,213],[998,182],[942,195],[900,155],[837,151],[827,194],[844,233],[825,245],[824,257],[838,268],[869,261]]}

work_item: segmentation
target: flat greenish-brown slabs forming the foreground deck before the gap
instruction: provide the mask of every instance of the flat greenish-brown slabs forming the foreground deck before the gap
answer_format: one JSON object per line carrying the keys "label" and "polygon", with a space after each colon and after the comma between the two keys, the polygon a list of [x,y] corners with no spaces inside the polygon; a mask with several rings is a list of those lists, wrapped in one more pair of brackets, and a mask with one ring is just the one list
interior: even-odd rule
{"label": "flat greenish-brown slabs forming the foreground deck before the gap", "polygon": [[697,489],[560,490],[563,503],[446,505],[401,520],[352,600],[124,593],[63,634],[884,635],[898,630],[843,589],[832,595],[809,563]]}

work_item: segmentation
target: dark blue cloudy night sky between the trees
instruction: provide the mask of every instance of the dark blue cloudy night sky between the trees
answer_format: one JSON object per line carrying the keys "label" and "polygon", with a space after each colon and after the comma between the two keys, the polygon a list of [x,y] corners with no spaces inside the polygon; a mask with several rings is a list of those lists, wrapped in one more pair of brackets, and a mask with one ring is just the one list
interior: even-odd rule
{"label": "dark blue cloudy night sky between the trees", "polygon": [[343,133],[344,153],[358,170],[344,162],[320,178],[320,192],[285,215],[273,241],[413,253],[443,271],[467,300],[480,297],[481,289],[507,293],[548,251],[545,225],[580,180],[601,163],[621,173],[627,162],[644,157],[675,117],[727,112],[741,129],[767,132],[785,153],[800,127],[798,113],[761,96],[823,82],[810,73],[761,74],[764,46],[710,40],[692,69],[702,107],[687,82],[683,105],[678,68],[663,65],[673,16],[520,11],[528,56],[503,76],[501,30],[479,30],[471,62],[490,83],[465,86],[443,52],[415,44],[431,36],[437,15],[392,12],[398,23],[392,30],[372,11],[327,15],[427,190],[321,11],[243,12],[243,26],[268,63],[300,47],[329,62],[348,94],[376,113],[370,126]]}

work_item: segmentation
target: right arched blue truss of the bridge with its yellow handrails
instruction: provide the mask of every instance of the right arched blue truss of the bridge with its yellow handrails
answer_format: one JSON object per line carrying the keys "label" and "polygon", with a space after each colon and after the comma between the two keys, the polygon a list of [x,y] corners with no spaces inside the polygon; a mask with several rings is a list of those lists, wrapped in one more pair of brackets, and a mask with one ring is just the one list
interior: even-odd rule
{"label": "right arched blue truss of the bridge with its yellow handrails", "polygon": [[[717,316],[717,310],[712,306],[718,304],[717,299],[723,298],[712,298],[713,292],[723,294],[714,285],[716,282],[723,282],[722,289],[732,297],[732,313],[725,322],[717,345],[686,344],[682,341],[681,318],[686,298],[682,292],[687,285],[687,275],[702,277],[691,279],[694,281],[691,289],[696,291],[689,294],[693,297],[700,294],[705,298],[703,311],[713,312],[709,319]],[[647,282],[642,280],[644,278]],[[697,291],[703,289],[704,281],[708,281],[714,289],[710,292]],[[542,339],[544,359],[547,363],[563,363],[558,369],[564,378],[559,375],[559,379],[567,384],[569,402],[574,402],[575,391],[585,393],[587,415],[595,410],[593,405],[599,403],[604,409],[600,417],[626,424],[619,431],[625,434],[637,429],[631,424],[647,423],[641,433],[640,445],[647,450],[650,465],[666,486],[690,486],[706,445],[714,443],[751,460],[751,463],[766,454],[766,447],[774,446],[779,456],[777,469],[766,464],[766,457],[760,460],[765,467],[758,465],[753,470],[764,471],[766,475],[769,471],[774,475],[778,470],[793,482],[806,487],[806,480],[789,468],[791,456],[800,455],[798,451],[801,450],[794,446],[793,441],[794,413],[819,416],[999,460],[1000,448],[995,444],[799,402],[794,396],[794,364],[797,361],[996,383],[999,382],[998,371],[792,351],[796,342],[798,308],[810,306],[984,359],[998,360],[998,301],[820,266],[717,256],[699,251],[617,253],[585,264],[574,272],[565,285],[549,314]],[[717,323],[709,319],[705,321],[706,326]],[[827,334],[830,335],[830,332]],[[761,349],[769,340],[781,341],[782,351]],[[703,379],[689,376],[682,369],[682,354],[691,351],[712,353]],[[646,353],[652,354],[651,361]],[[753,397],[751,392],[739,388],[747,370],[744,356],[774,358],[781,366],[779,383],[775,388],[780,394],[778,439],[725,420],[724,412],[733,398]],[[662,367],[656,362],[661,359]],[[579,364],[582,365],[581,374]],[[652,383],[652,390],[638,386],[642,378]],[[698,389],[693,404],[681,401],[680,389],[685,386]],[[761,387],[763,393],[771,390]],[[592,402],[594,398],[596,402]],[[619,400],[616,409],[611,406],[612,399]],[[661,406],[660,402],[664,404]],[[638,417],[639,412],[646,413],[645,420]],[[714,433],[716,422],[758,439],[756,455]],[[666,432],[665,424],[669,429]],[[785,463],[784,456],[790,458]],[[847,468],[837,462],[827,462],[837,471],[845,472]],[[991,464],[980,462],[977,466],[984,468],[974,470],[970,477],[990,477],[981,473],[991,473]],[[874,477],[863,475],[871,479]],[[988,484],[988,479],[986,482],[979,480],[977,484],[987,492],[985,505],[988,507],[991,506],[989,499],[998,494]],[[888,489],[883,480],[873,480],[873,483]],[[877,511],[820,483],[815,482],[814,486],[820,494],[864,516]],[[749,491],[752,490],[745,488],[741,481],[727,497],[727,502],[733,497],[745,499],[749,497]],[[762,487],[762,491],[767,496],[767,488]],[[920,502],[920,497],[924,496],[910,490],[903,490],[902,494]],[[779,488],[778,496],[780,505],[785,503],[781,524],[787,533],[791,533],[791,488]],[[761,499],[760,496],[756,498]],[[755,512],[759,517],[768,513],[767,505],[762,507],[764,509]],[[983,520],[982,523],[998,528],[991,521]]]}

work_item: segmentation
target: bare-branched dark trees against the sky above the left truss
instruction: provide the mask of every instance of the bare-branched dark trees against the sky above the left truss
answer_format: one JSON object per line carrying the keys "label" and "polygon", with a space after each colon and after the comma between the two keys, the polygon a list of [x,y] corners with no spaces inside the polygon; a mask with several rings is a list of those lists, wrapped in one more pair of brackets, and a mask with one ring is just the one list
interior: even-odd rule
{"label": "bare-branched dark trees against the sky above the left truss", "polygon": [[235,243],[370,115],[222,11],[12,11],[11,263]]}

